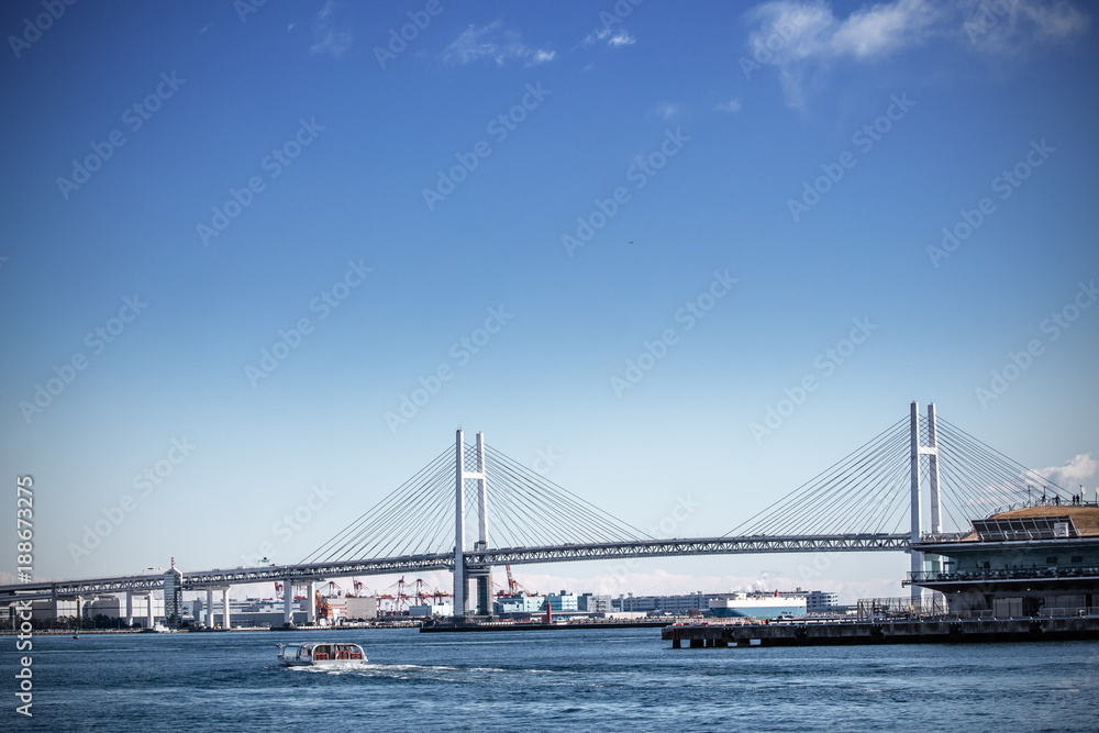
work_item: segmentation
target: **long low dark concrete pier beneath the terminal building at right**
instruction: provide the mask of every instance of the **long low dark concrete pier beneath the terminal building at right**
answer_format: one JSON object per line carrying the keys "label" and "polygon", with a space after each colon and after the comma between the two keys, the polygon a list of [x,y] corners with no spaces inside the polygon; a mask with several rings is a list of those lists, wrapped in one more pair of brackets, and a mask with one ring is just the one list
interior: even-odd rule
{"label": "long low dark concrete pier beneath the terminal building at right", "polygon": [[675,649],[1099,640],[1099,617],[699,623],[666,626],[660,637]]}

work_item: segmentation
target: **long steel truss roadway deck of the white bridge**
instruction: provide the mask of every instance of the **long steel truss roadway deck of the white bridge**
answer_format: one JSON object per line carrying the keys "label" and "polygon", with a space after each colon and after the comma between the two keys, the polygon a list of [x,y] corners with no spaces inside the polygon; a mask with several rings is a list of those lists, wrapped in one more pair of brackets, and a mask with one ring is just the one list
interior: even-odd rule
{"label": "long steel truss roadway deck of the white bridge", "polygon": [[[465,553],[467,568],[493,565],[531,565],[620,557],[677,557],[687,555],[737,555],[748,553],[907,552],[908,534],[752,535],[693,540],[636,540],[598,544],[543,547],[497,547]],[[398,575],[428,570],[454,570],[454,553],[406,555],[367,560],[270,565],[233,570],[184,573],[184,590],[223,586],[328,580],[359,575]],[[71,598],[122,592],[148,592],[164,588],[164,575],[136,575],[85,580],[55,580],[0,586],[0,602],[15,599]]]}

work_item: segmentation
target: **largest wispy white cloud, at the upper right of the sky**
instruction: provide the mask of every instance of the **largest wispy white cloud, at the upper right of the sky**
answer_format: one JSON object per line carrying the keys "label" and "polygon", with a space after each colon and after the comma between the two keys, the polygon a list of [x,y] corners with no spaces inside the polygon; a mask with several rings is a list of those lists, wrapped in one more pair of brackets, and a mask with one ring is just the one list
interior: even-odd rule
{"label": "largest wispy white cloud, at the upper right of the sky", "polygon": [[892,0],[836,16],[823,0],[773,0],[747,13],[757,27],[748,57],[774,65],[787,104],[802,107],[808,78],[840,62],[873,63],[947,40],[1019,53],[1081,33],[1089,23],[1067,0]]}

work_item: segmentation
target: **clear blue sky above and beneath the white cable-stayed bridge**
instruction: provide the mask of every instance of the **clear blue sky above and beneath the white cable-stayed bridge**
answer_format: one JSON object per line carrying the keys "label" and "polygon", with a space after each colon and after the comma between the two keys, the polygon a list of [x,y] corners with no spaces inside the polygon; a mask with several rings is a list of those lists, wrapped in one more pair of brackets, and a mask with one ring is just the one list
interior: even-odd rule
{"label": "clear blue sky above and beneath the white cable-stayed bridge", "polygon": [[[42,577],[295,562],[457,426],[641,527],[687,497],[678,536],[911,400],[1096,487],[1084,3],[49,8],[0,11],[0,463],[34,476]],[[652,560],[622,590],[803,560]],[[900,595],[907,564],[811,585]]]}

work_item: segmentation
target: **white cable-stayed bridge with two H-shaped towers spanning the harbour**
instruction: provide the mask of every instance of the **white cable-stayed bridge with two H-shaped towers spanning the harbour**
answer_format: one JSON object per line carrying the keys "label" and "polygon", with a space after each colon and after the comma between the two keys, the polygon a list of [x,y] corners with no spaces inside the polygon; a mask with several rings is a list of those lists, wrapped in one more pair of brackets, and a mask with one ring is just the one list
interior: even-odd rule
{"label": "white cable-stayed bridge with two H-shaped towers spanning the harbour", "polygon": [[[926,488],[926,492],[924,492]],[[293,565],[265,565],[0,586],[0,602],[102,593],[165,593],[170,619],[182,591],[213,592],[229,619],[230,586],[277,582],[287,622],[292,588],[431,570],[454,577],[455,615],[491,613],[491,570],[500,565],[746,553],[907,552],[957,536],[969,520],[1003,509],[1068,501],[1069,491],[956,425],[935,406],[908,417],[721,536],[654,537],[458,430],[447,447],[395,491]],[[928,522],[924,523],[924,509]],[[468,529],[467,529],[468,524]],[[951,533],[954,533],[951,535]],[[474,592],[468,591],[470,585]],[[912,588],[913,598],[922,593]],[[79,602],[79,601],[78,601]],[[152,608],[152,603],[148,604]]]}

